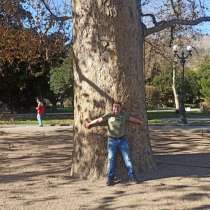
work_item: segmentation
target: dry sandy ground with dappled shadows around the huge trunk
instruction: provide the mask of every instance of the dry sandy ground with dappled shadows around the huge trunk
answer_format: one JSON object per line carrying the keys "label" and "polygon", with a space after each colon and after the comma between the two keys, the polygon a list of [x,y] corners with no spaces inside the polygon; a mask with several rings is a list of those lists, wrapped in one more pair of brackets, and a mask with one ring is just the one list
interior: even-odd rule
{"label": "dry sandy ground with dappled shadows around the huge trunk", "polygon": [[153,127],[158,169],[140,184],[69,176],[70,127],[0,128],[0,210],[210,209],[208,130]]}

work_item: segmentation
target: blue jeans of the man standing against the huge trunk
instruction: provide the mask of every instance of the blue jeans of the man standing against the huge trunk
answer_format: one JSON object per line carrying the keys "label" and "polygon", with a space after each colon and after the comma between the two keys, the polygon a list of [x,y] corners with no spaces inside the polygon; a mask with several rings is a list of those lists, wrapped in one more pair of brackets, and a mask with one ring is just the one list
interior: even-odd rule
{"label": "blue jeans of the man standing against the huge trunk", "polygon": [[134,176],[133,166],[129,157],[129,149],[128,149],[128,139],[127,137],[122,138],[108,138],[108,178],[113,179],[115,176],[115,161],[116,161],[116,153],[117,150],[122,154],[123,161],[125,163],[128,176]]}

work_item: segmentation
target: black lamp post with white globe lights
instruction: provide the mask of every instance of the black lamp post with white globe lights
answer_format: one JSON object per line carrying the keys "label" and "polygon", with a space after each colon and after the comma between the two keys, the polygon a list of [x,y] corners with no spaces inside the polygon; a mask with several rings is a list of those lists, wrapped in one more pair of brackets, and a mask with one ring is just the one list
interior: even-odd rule
{"label": "black lamp post with white globe lights", "polygon": [[192,56],[192,47],[187,46],[186,50],[181,49],[180,52],[178,52],[178,46],[173,46],[173,53],[174,57],[178,58],[180,61],[180,64],[182,66],[182,76],[181,76],[181,91],[180,91],[180,105],[179,105],[179,114],[180,114],[180,122],[182,124],[187,124],[187,118],[185,113],[185,105],[184,105],[184,99],[185,99],[185,89],[184,89],[184,82],[185,82],[185,76],[184,76],[184,67],[186,60]]}

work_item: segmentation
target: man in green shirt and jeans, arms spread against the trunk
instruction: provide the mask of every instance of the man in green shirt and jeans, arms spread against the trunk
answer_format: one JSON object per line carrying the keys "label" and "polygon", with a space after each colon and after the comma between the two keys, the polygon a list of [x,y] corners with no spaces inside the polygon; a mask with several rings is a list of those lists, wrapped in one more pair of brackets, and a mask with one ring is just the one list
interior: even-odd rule
{"label": "man in green shirt and jeans, arms spread against the trunk", "polygon": [[90,129],[92,126],[106,122],[108,125],[108,179],[107,185],[113,185],[115,177],[116,152],[119,150],[122,154],[125,166],[128,172],[129,182],[138,182],[129,156],[127,128],[128,122],[142,125],[141,119],[132,117],[128,112],[122,110],[120,102],[114,102],[112,112],[105,114],[95,120],[85,123],[85,127]]}

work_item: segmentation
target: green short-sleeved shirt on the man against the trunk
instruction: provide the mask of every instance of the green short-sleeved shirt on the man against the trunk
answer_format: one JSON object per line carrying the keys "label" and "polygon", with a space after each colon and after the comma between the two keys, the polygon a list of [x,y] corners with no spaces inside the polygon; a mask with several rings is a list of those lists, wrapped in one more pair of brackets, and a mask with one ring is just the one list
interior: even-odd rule
{"label": "green short-sleeved shirt on the man against the trunk", "polygon": [[120,112],[118,114],[108,113],[103,117],[103,121],[107,122],[108,125],[108,136],[119,138],[127,135],[128,133],[128,120],[129,113]]}

